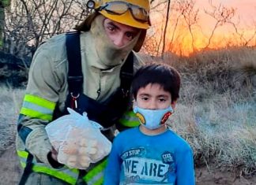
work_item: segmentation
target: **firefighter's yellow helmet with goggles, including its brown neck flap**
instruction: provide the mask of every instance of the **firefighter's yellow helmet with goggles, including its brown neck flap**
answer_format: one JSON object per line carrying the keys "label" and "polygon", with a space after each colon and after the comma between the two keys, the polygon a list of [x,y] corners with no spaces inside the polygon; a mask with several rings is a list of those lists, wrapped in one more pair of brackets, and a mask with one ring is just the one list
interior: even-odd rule
{"label": "firefighter's yellow helmet with goggles, including its brown neck flap", "polygon": [[[112,5],[111,9],[108,9],[109,7],[107,7],[107,5],[109,4]],[[116,7],[116,5],[119,7],[121,5],[121,9],[119,10],[122,10],[125,7],[123,4],[127,5],[127,8],[123,12],[119,12],[118,10],[112,9]],[[99,15],[99,13],[101,13],[104,17],[107,17],[110,20],[114,20],[116,22],[126,24],[134,28],[141,28],[140,37],[137,40],[137,44],[134,46],[133,49],[135,52],[141,50],[141,46],[143,45],[145,40],[146,31],[150,26],[149,0],[89,0],[87,2],[87,6],[89,9],[95,9],[96,11],[90,14],[88,17],[86,17],[85,20],[81,22],[81,24],[78,24],[74,29],[76,29],[77,31],[90,30],[92,21],[95,19],[95,17]],[[135,12],[136,10],[139,11]]]}

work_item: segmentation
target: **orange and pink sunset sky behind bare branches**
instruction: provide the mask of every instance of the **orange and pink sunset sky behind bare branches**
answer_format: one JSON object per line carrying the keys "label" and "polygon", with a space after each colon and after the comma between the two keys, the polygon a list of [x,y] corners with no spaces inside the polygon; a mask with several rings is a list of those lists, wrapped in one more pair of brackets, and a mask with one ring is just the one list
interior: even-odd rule
{"label": "orange and pink sunset sky behind bare branches", "polygon": [[[160,2],[161,0],[156,1]],[[171,1],[173,3],[175,1]],[[186,1],[185,1],[186,2]],[[214,31],[213,39],[209,48],[219,48],[223,46],[235,46],[243,45],[244,42],[250,39],[250,46],[256,45],[256,0],[212,0],[213,6],[219,7],[220,5],[231,9],[235,9],[235,16],[232,17],[232,23],[235,24],[237,32],[232,24],[218,25]],[[163,8],[164,9],[164,8]],[[163,9],[154,12],[152,17],[152,24],[158,26],[158,30],[163,26]],[[192,33],[194,36],[194,49],[201,50],[204,48],[210,37],[210,33],[213,31],[216,24],[216,20],[210,17],[205,11],[212,12],[213,7],[210,6],[208,0],[195,0],[194,9],[198,9],[198,24],[192,27]],[[186,54],[193,51],[191,35],[189,29],[186,27],[186,23],[183,18],[179,19],[179,26],[175,30],[175,16],[178,16],[175,10],[171,10],[171,18],[168,24],[168,35],[170,39],[172,35],[175,35],[175,39],[172,42],[172,50],[186,50]],[[155,32],[156,29],[154,30]],[[157,35],[157,34],[156,34]],[[243,35],[243,38],[241,37]],[[242,39],[241,39],[242,38]],[[177,52],[176,52],[177,53]]]}

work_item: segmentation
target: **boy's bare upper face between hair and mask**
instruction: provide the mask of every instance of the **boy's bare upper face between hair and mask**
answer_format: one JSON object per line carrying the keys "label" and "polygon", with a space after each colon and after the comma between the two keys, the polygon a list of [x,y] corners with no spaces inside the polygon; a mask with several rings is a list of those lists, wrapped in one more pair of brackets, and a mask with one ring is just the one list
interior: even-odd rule
{"label": "boy's bare upper face between hair and mask", "polygon": [[135,102],[142,109],[166,109],[171,105],[171,94],[160,84],[149,83],[137,91]]}

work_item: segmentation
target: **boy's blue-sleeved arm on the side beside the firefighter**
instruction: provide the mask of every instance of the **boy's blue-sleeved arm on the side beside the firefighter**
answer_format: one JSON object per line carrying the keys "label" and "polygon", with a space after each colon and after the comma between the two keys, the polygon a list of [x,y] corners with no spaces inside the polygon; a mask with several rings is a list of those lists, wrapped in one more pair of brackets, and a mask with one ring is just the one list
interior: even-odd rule
{"label": "boy's blue-sleeved arm on the side beside the firefighter", "polygon": [[119,156],[119,137],[114,139],[111,154],[107,158],[107,168],[104,172],[104,185],[115,185],[120,182],[122,159]]}

